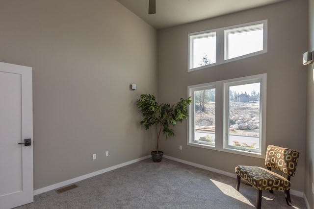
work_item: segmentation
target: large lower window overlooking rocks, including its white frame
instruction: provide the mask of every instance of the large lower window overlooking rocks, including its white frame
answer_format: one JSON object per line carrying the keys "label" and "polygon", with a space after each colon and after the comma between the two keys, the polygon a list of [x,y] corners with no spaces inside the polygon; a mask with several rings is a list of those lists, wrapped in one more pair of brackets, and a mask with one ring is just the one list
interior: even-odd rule
{"label": "large lower window overlooking rocks, including its white frame", "polygon": [[264,157],[266,74],[188,87],[188,145]]}

